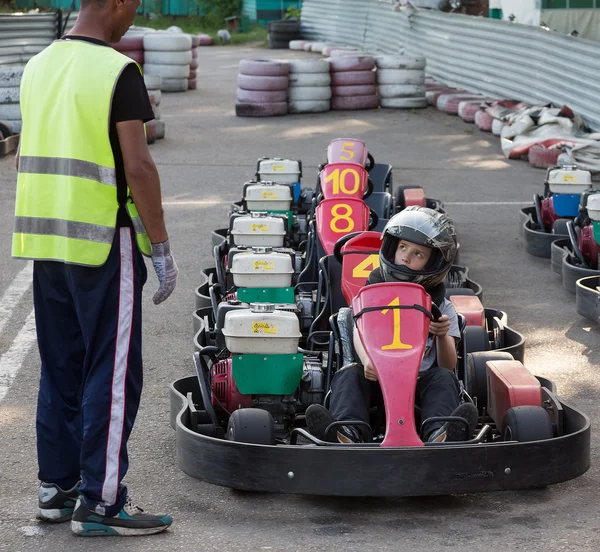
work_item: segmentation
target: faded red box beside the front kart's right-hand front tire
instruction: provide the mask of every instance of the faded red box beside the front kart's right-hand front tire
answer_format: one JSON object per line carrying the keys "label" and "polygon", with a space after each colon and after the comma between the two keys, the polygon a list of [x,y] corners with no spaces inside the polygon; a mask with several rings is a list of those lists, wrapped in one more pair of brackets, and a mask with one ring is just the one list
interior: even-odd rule
{"label": "faded red box beside the front kart's right-hand front tire", "polygon": [[[518,360],[489,360],[488,414],[500,424],[505,412],[515,406],[542,406],[542,386]],[[503,428],[499,428],[501,431]]]}

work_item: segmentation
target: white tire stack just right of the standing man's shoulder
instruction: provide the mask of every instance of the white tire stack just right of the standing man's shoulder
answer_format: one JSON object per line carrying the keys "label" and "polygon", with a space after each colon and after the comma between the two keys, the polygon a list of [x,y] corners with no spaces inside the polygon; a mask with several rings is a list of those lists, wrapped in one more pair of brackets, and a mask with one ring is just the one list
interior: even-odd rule
{"label": "white tire stack just right of the standing man's shoulder", "polygon": [[144,73],[162,77],[163,92],[188,89],[192,62],[192,37],[183,33],[156,32],[144,35]]}

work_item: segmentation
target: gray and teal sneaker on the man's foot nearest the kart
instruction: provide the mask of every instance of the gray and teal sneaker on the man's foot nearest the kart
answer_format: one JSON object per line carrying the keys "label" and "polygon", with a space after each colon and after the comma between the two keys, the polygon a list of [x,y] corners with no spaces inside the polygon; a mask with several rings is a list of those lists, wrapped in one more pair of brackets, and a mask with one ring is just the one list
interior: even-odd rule
{"label": "gray and teal sneaker on the man's foot nearest the kart", "polygon": [[71,531],[82,537],[136,537],[153,535],[168,529],[173,518],[166,514],[146,514],[135,506],[129,497],[116,516],[101,516],[87,507],[81,499],[77,501]]}

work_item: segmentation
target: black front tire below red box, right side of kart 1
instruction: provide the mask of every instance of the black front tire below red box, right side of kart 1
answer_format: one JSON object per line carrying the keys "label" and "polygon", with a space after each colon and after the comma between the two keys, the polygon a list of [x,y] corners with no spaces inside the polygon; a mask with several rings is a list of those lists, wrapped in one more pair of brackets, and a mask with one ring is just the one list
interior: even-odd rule
{"label": "black front tire below red box, right side of kart 1", "polygon": [[[497,422],[497,420],[496,420]],[[546,441],[554,437],[554,428],[548,412],[541,406],[515,406],[502,417],[504,441]]]}

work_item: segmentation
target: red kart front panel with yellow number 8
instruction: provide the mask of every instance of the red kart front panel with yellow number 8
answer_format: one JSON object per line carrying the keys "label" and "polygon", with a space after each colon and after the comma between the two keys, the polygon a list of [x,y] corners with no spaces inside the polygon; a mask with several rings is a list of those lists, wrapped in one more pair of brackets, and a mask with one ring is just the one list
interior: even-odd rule
{"label": "red kart front panel with yellow number 8", "polygon": [[332,255],[335,242],[352,232],[369,228],[370,210],[362,199],[324,199],[316,210],[317,234],[326,255]]}

